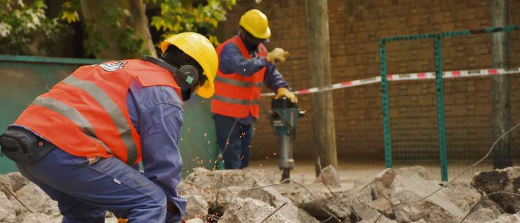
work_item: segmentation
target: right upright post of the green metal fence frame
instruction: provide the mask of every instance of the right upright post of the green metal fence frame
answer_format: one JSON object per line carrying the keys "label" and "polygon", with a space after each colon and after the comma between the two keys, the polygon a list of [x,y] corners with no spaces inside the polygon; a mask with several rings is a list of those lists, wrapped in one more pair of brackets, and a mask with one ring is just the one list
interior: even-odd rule
{"label": "right upright post of the green metal fence frame", "polygon": [[446,155],[446,128],[444,119],[444,84],[442,38],[434,37],[435,49],[435,90],[437,96],[437,122],[439,127],[440,178],[448,181],[448,159]]}

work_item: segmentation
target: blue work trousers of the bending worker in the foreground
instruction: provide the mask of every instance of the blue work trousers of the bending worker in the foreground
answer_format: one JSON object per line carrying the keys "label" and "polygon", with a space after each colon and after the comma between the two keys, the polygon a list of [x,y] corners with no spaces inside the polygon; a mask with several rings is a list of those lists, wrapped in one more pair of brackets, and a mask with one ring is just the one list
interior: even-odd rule
{"label": "blue work trousers of the bending worker in the foreground", "polygon": [[180,222],[167,216],[164,191],[118,158],[88,164],[84,157],[55,148],[36,163],[17,166],[58,201],[64,223],[105,222],[107,210],[129,223]]}

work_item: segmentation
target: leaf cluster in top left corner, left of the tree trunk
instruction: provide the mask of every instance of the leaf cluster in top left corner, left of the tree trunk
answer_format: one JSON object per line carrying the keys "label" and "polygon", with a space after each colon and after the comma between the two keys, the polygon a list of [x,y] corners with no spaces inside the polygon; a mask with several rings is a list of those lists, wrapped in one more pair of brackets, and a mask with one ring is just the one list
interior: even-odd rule
{"label": "leaf cluster in top left corner, left of the tree trunk", "polygon": [[58,18],[45,15],[43,0],[30,5],[21,0],[0,0],[0,54],[47,55],[68,34]]}

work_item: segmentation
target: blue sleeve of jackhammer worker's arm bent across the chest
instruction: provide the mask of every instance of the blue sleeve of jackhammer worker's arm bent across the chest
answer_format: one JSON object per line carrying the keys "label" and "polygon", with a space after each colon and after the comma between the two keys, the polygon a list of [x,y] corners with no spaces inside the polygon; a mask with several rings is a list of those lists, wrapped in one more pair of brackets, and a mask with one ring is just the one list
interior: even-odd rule
{"label": "blue sleeve of jackhammer worker's arm bent across the chest", "polygon": [[267,59],[261,57],[246,59],[235,44],[227,44],[220,51],[218,68],[224,74],[237,73],[250,77],[269,64]]}

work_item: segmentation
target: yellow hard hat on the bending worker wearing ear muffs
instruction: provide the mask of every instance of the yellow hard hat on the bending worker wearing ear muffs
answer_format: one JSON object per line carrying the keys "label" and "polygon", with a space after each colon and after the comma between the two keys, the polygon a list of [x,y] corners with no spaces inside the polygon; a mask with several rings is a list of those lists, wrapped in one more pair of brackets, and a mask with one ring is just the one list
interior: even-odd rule
{"label": "yellow hard hat on the bending worker wearing ear muffs", "polygon": [[207,77],[207,81],[199,88],[197,94],[206,99],[213,96],[215,93],[213,81],[217,75],[218,58],[210,40],[198,33],[179,33],[166,38],[161,43],[163,53],[171,44],[188,54],[204,69],[203,74]]}

